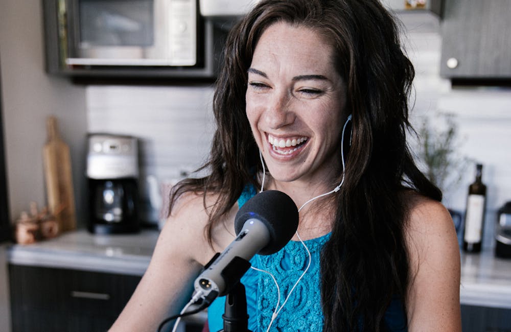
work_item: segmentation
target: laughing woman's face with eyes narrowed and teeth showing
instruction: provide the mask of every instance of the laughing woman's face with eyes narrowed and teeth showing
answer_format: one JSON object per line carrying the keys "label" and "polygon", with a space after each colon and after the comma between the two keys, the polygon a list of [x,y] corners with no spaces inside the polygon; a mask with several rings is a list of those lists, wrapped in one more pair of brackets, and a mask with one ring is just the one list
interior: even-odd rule
{"label": "laughing woman's face with eyes narrowed and teeth showing", "polygon": [[276,181],[331,183],[341,169],[344,82],[318,33],[274,23],[248,69],[246,112]]}

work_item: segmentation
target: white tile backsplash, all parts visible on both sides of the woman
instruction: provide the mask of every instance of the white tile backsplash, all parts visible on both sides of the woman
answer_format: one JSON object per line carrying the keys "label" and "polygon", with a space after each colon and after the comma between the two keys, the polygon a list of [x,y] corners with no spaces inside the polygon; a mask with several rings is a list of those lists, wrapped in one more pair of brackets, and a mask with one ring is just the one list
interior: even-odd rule
{"label": "white tile backsplash, all parts visible on both sides of the woman", "polygon": [[[511,200],[511,89],[452,88],[439,76],[439,34],[412,32],[404,38],[416,72],[411,122],[417,126],[426,117],[438,123],[438,112],[454,114],[460,155],[484,164],[483,245],[493,245],[496,210]],[[214,131],[212,99],[211,86],[89,86],[88,129],[140,137],[143,173],[171,181],[180,169],[197,167],[207,156]],[[468,165],[459,185],[445,193],[448,207],[464,210],[474,169]]]}

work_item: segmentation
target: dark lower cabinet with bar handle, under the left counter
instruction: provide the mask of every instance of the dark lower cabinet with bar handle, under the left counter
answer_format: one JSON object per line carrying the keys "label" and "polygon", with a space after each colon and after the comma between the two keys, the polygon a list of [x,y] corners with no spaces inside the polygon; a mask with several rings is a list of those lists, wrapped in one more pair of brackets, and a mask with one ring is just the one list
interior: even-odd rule
{"label": "dark lower cabinet with bar handle, under the left counter", "polygon": [[140,279],[11,264],[12,331],[106,331]]}

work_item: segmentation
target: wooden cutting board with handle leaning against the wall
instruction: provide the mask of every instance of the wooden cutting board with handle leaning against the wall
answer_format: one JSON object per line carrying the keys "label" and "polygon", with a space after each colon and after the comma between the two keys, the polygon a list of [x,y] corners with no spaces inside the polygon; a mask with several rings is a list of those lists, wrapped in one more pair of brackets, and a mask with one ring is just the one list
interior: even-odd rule
{"label": "wooden cutting board with handle leaning against the wall", "polygon": [[48,141],[42,150],[48,209],[59,222],[60,231],[76,229],[75,197],[69,147],[60,137],[57,118],[47,118]]}

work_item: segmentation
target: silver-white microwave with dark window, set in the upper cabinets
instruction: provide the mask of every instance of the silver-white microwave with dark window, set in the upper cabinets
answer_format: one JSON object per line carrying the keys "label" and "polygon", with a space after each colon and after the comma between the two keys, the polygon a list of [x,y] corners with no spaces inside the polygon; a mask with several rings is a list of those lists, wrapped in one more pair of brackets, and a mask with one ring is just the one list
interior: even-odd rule
{"label": "silver-white microwave with dark window, set in the upper cabinets", "polygon": [[193,66],[196,0],[72,0],[67,65]]}

